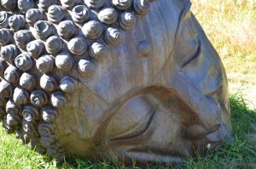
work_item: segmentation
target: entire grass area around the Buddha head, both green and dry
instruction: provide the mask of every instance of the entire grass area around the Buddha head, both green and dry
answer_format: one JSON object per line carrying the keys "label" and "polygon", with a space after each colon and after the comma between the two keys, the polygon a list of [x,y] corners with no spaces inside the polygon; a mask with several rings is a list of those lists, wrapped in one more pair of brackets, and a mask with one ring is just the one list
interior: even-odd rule
{"label": "entire grass area around the Buddha head, both green and dry", "polygon": [[[176,167],[256,168],[256,3],[254,0],[192,0],[192,3],[192,11],[227,70],[235,138],[206,158],[190,159]],[[0,136],[0,168],[125,168],[113,161],[93,163],[73,158],[56,166],[55,161],[20,146],[13,135],[0,130]],[[134,164],[131,168],[138,167]]]}

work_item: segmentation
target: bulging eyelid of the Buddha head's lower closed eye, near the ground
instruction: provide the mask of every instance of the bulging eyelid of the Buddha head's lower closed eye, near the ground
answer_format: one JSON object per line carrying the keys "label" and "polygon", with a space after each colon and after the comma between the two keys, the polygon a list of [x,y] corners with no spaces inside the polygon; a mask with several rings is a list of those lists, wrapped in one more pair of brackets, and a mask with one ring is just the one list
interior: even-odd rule
{"label": "bulging eyelid of the Buddha head's lower closed eye, near the ground", "polygon": [[137,138],[148,131],[157,108],[158,104],[154,103],[150,95],[137,95],[128,100],[108,122],[106,138],[110,142]]}

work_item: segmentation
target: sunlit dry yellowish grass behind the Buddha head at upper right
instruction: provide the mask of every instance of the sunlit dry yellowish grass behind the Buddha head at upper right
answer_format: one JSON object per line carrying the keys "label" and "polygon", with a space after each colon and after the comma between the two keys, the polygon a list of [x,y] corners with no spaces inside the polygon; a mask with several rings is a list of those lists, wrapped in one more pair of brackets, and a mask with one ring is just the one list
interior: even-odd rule
{"label": "sunlit dry yellowish grass behind the Buddha head at upper right", "polygon": [[191,2],[192,11],[224,62],[230,93],[241,93],[253,108],[256,106],[256,0]]}

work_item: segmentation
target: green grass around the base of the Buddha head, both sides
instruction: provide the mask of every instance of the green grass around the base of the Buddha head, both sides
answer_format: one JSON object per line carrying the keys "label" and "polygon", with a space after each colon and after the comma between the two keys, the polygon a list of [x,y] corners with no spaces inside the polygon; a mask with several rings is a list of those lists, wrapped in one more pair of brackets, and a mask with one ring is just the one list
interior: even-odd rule
{"label": "green grass around the base of the Buddha head, both sides", "polygon": [[[256,123],[256,111],[248,110],[244,100],[237,96],[230,98],[231,121],[235,133],[232,143],[227,143],[222,149],[218,149],[206,158],[190,159],[178,168],[256,168],[256,143],[250,142],[247,135],[256,132],[251,125]],[[49,161],[44,155],[38,155],[35,151],[20,146],[13,135],[6,135],[1,130],[0,135],[0,168],[128,168],[116,161],[91,161],[68,158],[61,166],[55,161]],[[156,164],[148,168],[172,168],[172,165]],[[130,166],[130,168],[139,168]]]}

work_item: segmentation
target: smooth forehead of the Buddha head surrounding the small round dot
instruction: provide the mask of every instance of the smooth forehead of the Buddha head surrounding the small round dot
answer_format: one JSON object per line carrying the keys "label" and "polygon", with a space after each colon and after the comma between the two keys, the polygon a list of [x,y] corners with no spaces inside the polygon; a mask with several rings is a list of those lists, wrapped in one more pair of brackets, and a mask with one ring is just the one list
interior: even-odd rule
{"label": "smooth forehead of the Buddha head surrounding the small round dot", "polygon": [[[175,33],[185,6],[166,0],[152,3],[150,13],[138,17],[135,27],[125,31],[123,41],[108,48],[95,74],[80,81],[108,103],[134,88],[152,85],[165,63],[172,62]],[[142,42],[150,43],[151,53],[147,56],[138,50]]]}

